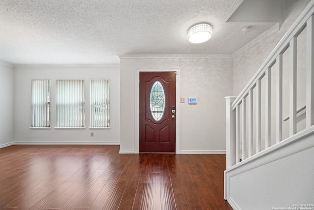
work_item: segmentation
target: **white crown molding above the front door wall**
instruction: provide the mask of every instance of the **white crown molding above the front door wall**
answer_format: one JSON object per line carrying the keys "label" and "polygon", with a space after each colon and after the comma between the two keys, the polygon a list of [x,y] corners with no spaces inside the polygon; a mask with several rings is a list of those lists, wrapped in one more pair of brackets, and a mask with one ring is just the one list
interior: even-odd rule
{"label": "white crown molding above the front door wall", "polygon": [[124,54],[117,55],[121,59],[232,59],[232,55],[189,55],[189,54],[174,54],[174,55],[137,55]]}

